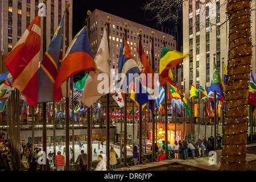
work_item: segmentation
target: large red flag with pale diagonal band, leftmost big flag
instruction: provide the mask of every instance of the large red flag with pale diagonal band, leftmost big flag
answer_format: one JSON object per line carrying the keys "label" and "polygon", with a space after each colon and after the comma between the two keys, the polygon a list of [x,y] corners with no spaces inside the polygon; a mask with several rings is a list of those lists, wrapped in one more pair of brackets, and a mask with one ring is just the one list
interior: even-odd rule
{"label": "large red flag with pale diagonal band, leftmost big flag", "polygon": [[31,106],[38,103],[40,45],[41,17],[37,15],[4,60],[13,76],[12,85],[22,92]]}

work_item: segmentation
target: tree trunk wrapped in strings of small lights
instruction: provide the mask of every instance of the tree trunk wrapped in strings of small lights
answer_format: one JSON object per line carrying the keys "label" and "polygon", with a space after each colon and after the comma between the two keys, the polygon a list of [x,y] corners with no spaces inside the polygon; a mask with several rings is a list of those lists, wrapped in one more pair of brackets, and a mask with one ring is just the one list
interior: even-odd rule
{"label": "tree trunk wrapped in strings of small lights", "polygon": [[221,170],[243,171],[246,165],[247,104],[252,55],[250,1],[229,0],[229,63]]}

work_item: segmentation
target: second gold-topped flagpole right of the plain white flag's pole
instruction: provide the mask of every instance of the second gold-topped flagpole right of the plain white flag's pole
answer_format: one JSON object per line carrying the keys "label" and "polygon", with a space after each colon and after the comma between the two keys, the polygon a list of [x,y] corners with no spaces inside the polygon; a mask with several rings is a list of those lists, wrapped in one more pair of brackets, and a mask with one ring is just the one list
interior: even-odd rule
{"label": "second gold-topped flagpole right of the plain white flag's pole", "polygon": [[[139,56],[142,51],[142,29],[139,28]],[[142,164],[142,105],[139,105],[139,164]],[[144,164],[144,163],[143,163]]]}

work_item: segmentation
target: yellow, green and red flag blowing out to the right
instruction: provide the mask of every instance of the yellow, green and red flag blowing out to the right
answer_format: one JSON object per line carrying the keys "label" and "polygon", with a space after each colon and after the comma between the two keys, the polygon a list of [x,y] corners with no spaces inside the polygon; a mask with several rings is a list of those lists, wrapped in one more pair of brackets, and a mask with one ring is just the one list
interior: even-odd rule
{"label": "yellow, green and red flag blowing out to the right", "polygon": [[160,86],[164,86],[168,81],[174,80],[171,69],[182,63],[187,55],[163,46],[159,66]]}

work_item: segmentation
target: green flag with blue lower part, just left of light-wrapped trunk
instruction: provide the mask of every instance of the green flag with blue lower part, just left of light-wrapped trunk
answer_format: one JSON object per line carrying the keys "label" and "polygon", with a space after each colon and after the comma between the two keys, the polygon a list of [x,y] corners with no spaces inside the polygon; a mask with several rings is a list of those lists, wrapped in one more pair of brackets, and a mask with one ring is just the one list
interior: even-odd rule
{"label": "green flag with blue lower part, just left of light-wrapped trunk", "polygon": [[218,68],[215,61],[213,64],[214,64],[214,68],[213,68],[212,84],[210,85],[210,89],[220,93],[225,100],[225,95],[224,95],[225,85],[222,81],[220,73],[218,72]]}

